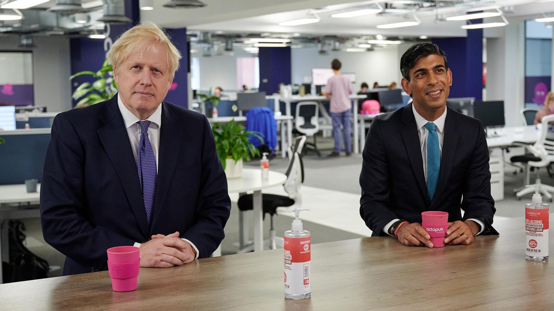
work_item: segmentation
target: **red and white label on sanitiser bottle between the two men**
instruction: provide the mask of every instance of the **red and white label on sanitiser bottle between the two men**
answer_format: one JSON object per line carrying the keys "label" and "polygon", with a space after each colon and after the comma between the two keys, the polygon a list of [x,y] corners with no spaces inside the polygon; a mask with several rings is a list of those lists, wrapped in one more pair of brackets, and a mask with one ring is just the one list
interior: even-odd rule
{"label": "red and white label on sanitiser bottle between the two men", "polygon": [[310,237],[285,236],[285,293],[309,294],[310,289]]}

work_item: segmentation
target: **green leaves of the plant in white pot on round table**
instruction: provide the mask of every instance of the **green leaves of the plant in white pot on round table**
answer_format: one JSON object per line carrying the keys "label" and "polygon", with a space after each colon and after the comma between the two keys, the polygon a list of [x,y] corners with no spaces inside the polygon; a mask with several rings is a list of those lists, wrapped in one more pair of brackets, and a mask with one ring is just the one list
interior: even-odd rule
{"label": "green leaves of the plant in white pot on round table", "polygon": [[254,136],[264,143],[260,133],[246,131],[242,125],[235,124],[234,120],[224,125],[214,123],[212,132],[216,139],[217,155],[223,169],[225,169],[225,159],[233,159],[237,163],[240,159],[249,161],[251,157],[260,155],[260,151],[248,141],[249,137]]}

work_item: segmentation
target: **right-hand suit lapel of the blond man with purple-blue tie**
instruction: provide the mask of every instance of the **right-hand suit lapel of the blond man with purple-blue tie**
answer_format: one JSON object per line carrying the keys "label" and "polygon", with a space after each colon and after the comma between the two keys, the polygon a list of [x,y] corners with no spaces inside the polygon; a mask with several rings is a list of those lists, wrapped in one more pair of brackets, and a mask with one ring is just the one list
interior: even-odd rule
{"label": "right-hand suit lapel of the blond man with purple-blue tie", "polygon": [[181,148],[181,141],[179,141],[177,136],[179,127],[177,126],[175,116],[168,111],[169,109],[169,105],[163,102],[162,124],[160,127],[160,150],[158,151],[158,179],[150,234],[152,234],[156,220],[163,209],[163,202],[170,188],[173,173],[175,173],[179,149]]}

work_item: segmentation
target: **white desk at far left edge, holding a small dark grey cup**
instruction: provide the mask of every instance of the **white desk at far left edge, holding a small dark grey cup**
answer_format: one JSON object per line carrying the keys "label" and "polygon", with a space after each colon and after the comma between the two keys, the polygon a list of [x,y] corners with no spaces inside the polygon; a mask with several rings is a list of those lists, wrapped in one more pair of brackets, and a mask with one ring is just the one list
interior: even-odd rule
{"label": "white desk at far left edge, holding a small dark grey cup", "polygon": [[[19,185],[0,185],[0,260],[9,261],[8,257],[8,226],[3,224],[4,220],[25,219],[40,217],[39,205],[35,203],[40,201],[40,184],[37,185],[37,192],[27,193],[25,184]],[[15,203],[29,203],[27,206],[9,206]],[[4,258],[5,257],[5,258]],[[2,269],[0,269],[0,284],[2,284]]]}

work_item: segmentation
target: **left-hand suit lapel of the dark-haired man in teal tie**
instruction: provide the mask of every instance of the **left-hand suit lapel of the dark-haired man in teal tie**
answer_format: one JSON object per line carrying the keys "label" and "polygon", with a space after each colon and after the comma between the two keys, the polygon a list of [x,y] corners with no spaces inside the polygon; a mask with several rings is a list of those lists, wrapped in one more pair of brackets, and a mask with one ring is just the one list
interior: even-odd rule
{"label": "left-hand suit lapel of the dark-haired man in teal tie", "polygon": [[421,157],[421,146],[419,145],[419,134],[417,132],[416,118],[414,118],[412,111],[412,104],[403,108],[402,122],[404,128],[402,129],[402,141],[406,147],[408,153],[408,159],[412,165],[412,171],[414,177],[417,180],[419,189],[426,200],[427,198],[427,185],[425,185],[425,175],[423,172],[423,159]]}

